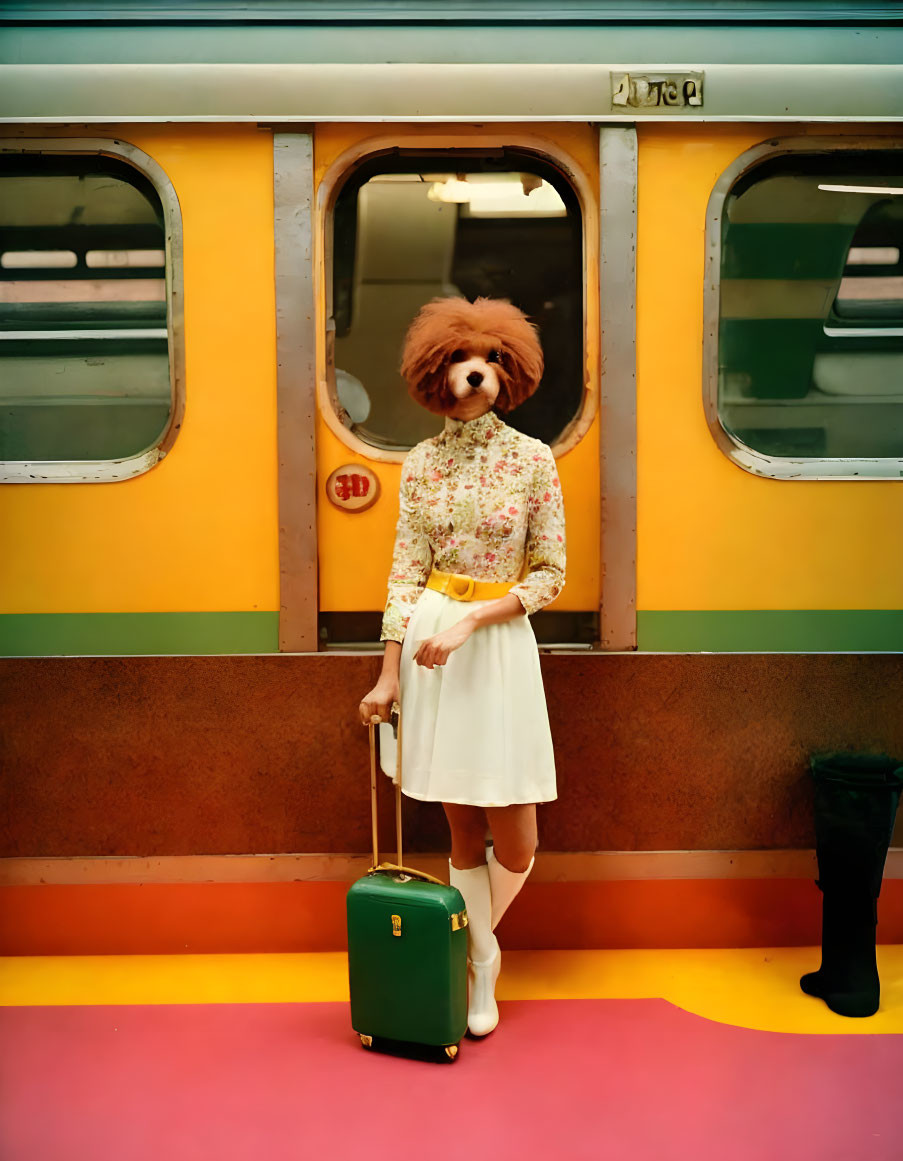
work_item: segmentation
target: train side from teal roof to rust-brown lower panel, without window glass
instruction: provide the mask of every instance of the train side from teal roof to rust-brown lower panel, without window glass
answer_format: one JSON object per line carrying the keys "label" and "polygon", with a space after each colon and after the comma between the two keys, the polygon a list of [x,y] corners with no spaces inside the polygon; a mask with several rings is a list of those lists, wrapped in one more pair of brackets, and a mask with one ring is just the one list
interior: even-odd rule
{"label": "train side from teal roof to rust-brown lower panel, without window glass", "polygon": [[[253,24],[203,3],[2,16],[3,152],[108,142],[172,187],[169,356],[178,344],[183,359],[178,431],[147,470],[0,488],[21,803],[2,854],[366,849],[353,708],[378,665],[400,455],[330,402],[335,203],[374,158],[445,153],[454,176],[456,158],[504,150],[561,174],[580,215],[583,395],[557,448],[569,579],[543,655],[562,781],[547,849],[808,849],[807,753],[903,752],[903,459],[873,478],[782,478],[725,453],[709,376],[717,189],[819,143],[903,157],[895,6],[672,6],[667,24],[604,2],[555,21],[529,2],[374,2],[353,20],[259,7]],[[283,146],[310,151],[288,228]],[[298,397],[316,418],[292,428]],[[378,479],[363,512],[326,498],[347,466]],[[74,783],[73,753],[94,771]],[[99,815],[115,820],[103,832]],[[420,808],[411,842],[442,848]]]}

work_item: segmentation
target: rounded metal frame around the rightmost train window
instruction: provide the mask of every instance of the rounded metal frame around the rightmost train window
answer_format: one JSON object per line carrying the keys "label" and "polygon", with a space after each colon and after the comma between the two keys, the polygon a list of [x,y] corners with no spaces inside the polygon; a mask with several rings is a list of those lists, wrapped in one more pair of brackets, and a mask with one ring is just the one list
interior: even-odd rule
{"label": "rounded metal frame around the rightmost train window", "polygon": [[706,209],[706,279],[703,286],[702,403],[709,431],[738,468],[767,479],[875,481],[903,478],[903,459],[792,457],[766,455],[728,432],[718,410],[718,332],[721,324],[721,218],[734,185],[764,160],[803,153],[903,151],[900,137],[788,137],[761,142],[736,158],[721,174]]}

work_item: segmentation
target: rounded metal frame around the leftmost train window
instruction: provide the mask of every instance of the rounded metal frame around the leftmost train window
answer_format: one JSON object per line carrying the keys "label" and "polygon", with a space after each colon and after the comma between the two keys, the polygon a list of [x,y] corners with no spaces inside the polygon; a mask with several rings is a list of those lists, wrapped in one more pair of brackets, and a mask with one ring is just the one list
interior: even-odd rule
{"label": "rounded metal frame around the leftmost train window", "polygon": [[182,290],[182,216],[173,183],[143,150],[118,138],[5,137],[3,154],[110,157],[137,170],[160,199],[165,223],[166,330],[169,353],[169,420],[157,442],[120,460],[0,460],[0,483],[114,483],[150,471],[172,449],[185,414],[185,309]]}

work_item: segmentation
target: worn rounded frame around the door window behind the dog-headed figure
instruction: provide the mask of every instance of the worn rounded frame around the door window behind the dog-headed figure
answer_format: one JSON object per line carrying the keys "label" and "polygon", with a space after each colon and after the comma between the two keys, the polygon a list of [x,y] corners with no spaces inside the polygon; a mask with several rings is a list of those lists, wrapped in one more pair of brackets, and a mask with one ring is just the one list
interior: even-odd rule
{"label": "worn rounded frame around the door window behind the dog-headed figure", "polygon": [[[590,325],[599,325],[599,320],[588,317],[587,273],[588,255],[599,250],[599,207],[586,176],[565,150],[558,149],[552,142],[532,135],[513,134],[501,136],[498,132],[476,130],[472,134],[449,132],[441,136],[399,134],[395,137],[367,138],[346,150],[338,157],[323,175],[317,188],[317,215],[322,222],[318,236],[319,260],[317,262],[318,290],[317,300],[324,311],[318,326],[323,337],[323,355],[317,374],[317,404],[323,420],[328,430],[349,450],[363,459],[382,463],[402,463],[409,449],[382,448],[356,435],[339,419],[338,396],[335,390],[335,355],[333,319],[333,236],[335,202],[346,181],[362,165],[380,156],[397,153],[417,157],[421,153],[449,156],[449,163],[468,154],[478,158],[487,151],[507,149],[529,157],[535,157],[547,165],[554,166],[568,181],[577,199],[581,221],[583,261],[581,261],[581,297],[583,297],[583,392],[579,409],[573,419],[562,431],[558,439],[551,444],[551,450],[557,457],[564,455],[583,439],[592,426],[598,410],[598,390],[593,389],[592,369],[587,365],[590,345]],[[594,251],[591,248],[594,247]]]}

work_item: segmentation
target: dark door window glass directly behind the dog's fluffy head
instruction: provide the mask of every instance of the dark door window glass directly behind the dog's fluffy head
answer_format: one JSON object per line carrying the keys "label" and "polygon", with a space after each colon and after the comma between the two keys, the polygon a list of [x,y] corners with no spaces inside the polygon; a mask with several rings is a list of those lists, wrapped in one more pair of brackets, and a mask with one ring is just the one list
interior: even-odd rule
{"label": "dark door window glass directly behind the dog's fluffy head", "polygon": [[367,444],[403,453],[441,430],[398,374],[405,330],[434,297],[508,298],[536,323],[546,373],[506,421],[554,444],[584,399],[583,222],[570,182],[515,150],[381,156],[333,211],[334,401]]}

